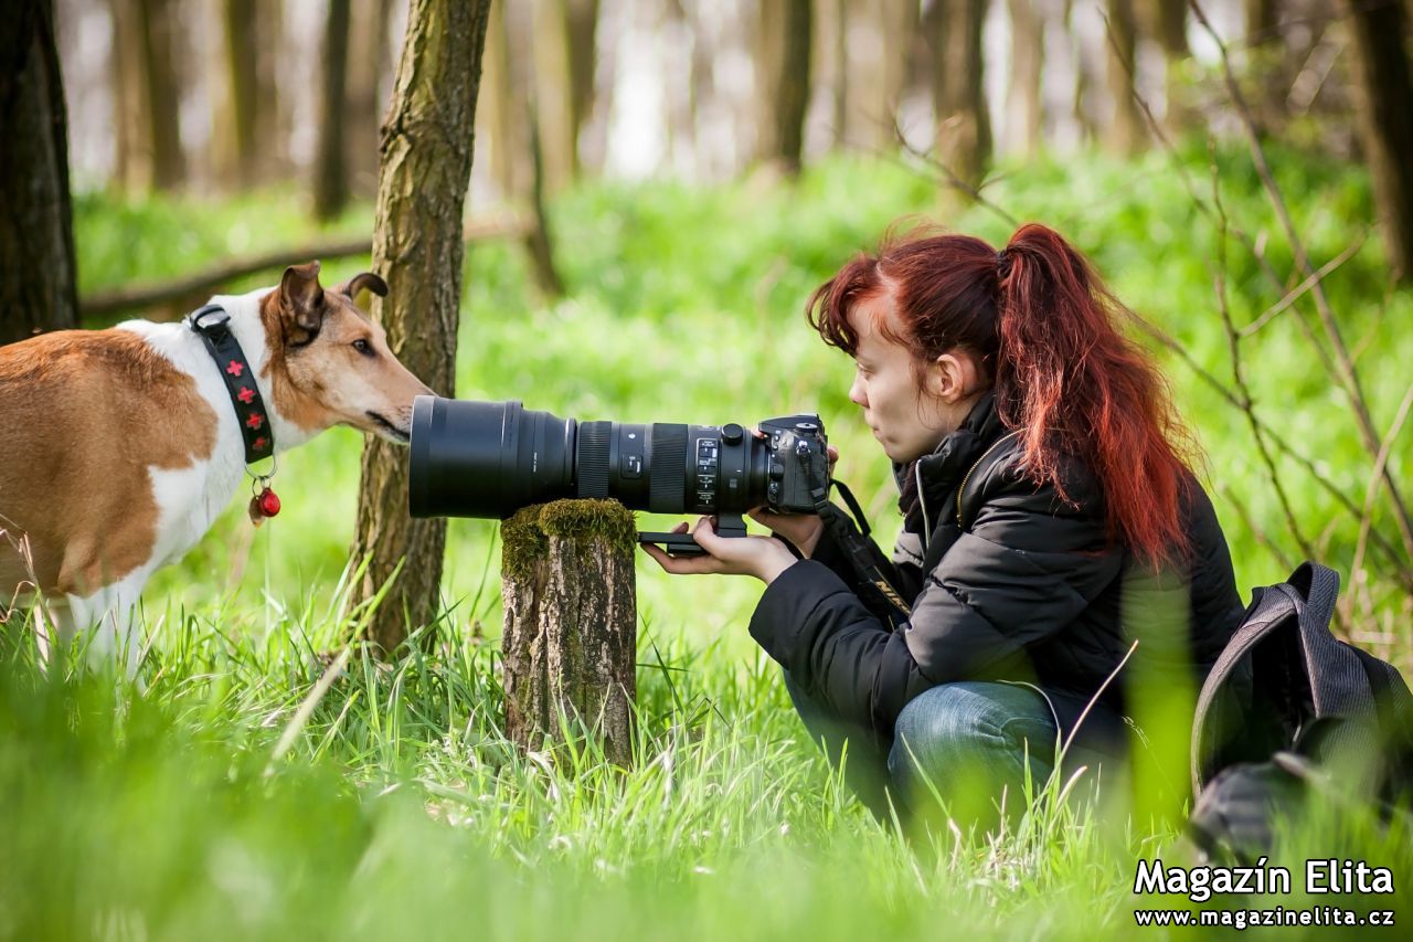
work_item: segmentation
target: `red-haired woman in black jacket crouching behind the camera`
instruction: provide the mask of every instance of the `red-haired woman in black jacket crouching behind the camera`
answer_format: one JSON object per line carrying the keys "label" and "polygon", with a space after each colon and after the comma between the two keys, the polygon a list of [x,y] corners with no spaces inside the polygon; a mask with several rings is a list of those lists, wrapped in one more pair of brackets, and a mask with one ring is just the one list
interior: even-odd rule
{"label": "red-haired woman in black jacket crouching behind the camera", "polygon": [[848,738],[875,809],[890,785],[904,808],[935,796],[986,825],[1024,806],[1057,744],[1067,765],[1122,755],[1125,710],[1153,692],[1187,692],[1186,735],[1242,604],[1166,385],[1116,310],[1041,225],[1000,252],[962,235],[886,245],[810,298],[856,361],[849,399],[901,491],[899,631],[815,516],[752,515],[781,539],[723,539],[702,518],[708,556],[647,547],[671,573],[767,584],[750,634],[835,758]]}

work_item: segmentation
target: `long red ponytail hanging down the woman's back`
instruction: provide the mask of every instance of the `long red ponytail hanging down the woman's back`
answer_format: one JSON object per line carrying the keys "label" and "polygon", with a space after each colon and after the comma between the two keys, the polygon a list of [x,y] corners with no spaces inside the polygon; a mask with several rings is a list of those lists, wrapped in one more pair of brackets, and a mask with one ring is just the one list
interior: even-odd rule
{"label": "long red ponytail hanging down the woman's back", "polygon": [[996,256],[1000,286],[996,405],[1022,430],[1023,463],[1060,498],[1063,461],[1101,485],[1109,537],[1157,569],[1186,556],[1183,488],[1190,448],[1153,361],[1115,324],[1118,301],[1057,232],[1016,231]]}

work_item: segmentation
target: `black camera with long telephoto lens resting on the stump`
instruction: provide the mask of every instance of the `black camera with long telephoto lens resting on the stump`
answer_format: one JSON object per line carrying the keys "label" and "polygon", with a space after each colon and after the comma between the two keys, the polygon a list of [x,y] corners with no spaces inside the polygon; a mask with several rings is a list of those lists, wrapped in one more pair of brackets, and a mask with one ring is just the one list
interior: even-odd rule
{"label": "black camera with long telephoto lens resting on the stump", "polygon": [[[745,536],[757,506],[815,513],[829,494],[824,424],[815,414],[738,423],[577,421],[517,400],[417,396],[408,457],[413,516],[507,518],[558,498],[615,498],[633,511],[709,513]],[[673,553],[685,533],[640,533]]]}

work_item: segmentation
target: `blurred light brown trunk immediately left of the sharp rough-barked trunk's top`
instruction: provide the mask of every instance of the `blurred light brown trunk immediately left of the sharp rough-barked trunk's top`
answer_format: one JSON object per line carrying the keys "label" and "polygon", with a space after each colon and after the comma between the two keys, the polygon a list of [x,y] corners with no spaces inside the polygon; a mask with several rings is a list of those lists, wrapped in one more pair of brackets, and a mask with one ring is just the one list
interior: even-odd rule
{"label": "blurred light brown trunk immediately left of the sharp rough-barked trunk's top", "polygon": [[391,0],[353,0],[343,136],[349,190],[359,197],[377,192],[377,122],[393,68],[387,41],[391,13]]}

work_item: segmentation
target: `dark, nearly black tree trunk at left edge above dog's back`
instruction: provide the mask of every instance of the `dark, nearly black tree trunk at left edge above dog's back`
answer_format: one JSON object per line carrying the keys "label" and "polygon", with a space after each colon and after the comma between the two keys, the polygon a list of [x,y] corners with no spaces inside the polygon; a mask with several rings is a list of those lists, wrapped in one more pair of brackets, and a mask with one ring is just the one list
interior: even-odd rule
{"label": "dark, nearly black tree trunk at left edge above dog's back", "polygon": [[73,212],[52,0],[4,4],[0,33],[0,344],[75,327]]}

